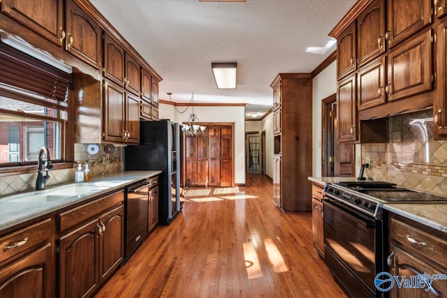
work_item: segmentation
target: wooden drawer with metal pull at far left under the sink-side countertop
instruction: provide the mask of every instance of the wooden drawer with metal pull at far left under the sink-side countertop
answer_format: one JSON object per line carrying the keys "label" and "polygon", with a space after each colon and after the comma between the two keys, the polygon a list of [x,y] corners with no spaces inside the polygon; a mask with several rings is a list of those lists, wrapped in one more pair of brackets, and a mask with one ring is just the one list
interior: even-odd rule
{"label": "wooden drawer with metal pull at far left under the sink-side countertop", "polygon": [[51,218],[0,238],[0,262],[51,241]]}

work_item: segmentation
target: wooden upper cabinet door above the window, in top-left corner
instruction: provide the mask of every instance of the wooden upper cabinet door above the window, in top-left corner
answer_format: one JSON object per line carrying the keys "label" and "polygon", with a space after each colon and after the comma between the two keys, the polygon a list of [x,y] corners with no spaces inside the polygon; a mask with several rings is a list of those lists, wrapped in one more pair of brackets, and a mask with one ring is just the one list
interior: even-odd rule
{"label": "wooden upper cabinet door above the window, in top-left corner", "polygon": [[61,46],[64,41],[63,0],[1,1],[1,11],[25,27]]}

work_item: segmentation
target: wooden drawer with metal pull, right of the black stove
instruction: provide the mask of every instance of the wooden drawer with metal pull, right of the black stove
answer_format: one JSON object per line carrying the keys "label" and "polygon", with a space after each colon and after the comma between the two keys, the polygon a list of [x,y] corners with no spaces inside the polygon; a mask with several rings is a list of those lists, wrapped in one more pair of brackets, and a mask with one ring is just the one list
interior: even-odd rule
{"label": "wooden drawer with metal pull, right of the black stove", "polygon": [[402,221],[397,221],[395,218],[390,218],[390,230],[392,242],[397,241],[404,248],[409,248],[409,251],[420,253],[433,262],[447,267],[446,240],[402,223]]}

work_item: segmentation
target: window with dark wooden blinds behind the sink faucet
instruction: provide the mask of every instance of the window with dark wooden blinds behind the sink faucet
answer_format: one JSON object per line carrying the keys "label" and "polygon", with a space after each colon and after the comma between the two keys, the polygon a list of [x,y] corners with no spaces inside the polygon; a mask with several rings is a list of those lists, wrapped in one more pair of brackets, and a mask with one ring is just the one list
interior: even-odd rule
{"label": "window with dark wooden blinds behind the sink faucet", "polygon": [[71,75],[0,43],[0,167],[34,165],[45,146],[54,163],[65,148]]}

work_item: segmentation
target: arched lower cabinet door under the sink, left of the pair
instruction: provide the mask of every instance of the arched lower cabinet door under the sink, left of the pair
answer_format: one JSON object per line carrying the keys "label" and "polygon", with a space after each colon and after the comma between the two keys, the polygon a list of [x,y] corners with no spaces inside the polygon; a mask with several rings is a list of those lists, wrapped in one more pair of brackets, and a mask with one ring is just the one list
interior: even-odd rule
{"label": "arched lower cabinet door under the sink, left of the pair", "polygon": [[59,239],[59,297],[87,297],[99,285],[98,220]]}

